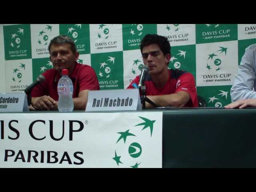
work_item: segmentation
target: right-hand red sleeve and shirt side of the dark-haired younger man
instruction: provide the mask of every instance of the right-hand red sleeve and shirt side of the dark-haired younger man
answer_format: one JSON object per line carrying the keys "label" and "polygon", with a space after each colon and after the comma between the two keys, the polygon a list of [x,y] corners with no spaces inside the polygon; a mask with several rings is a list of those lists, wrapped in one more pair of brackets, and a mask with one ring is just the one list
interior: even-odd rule
{"label": "right-hand red sleeve and shirt side of the dark-haired younger man", "polygon": [[179,91],[186,91],[190,96],[190,100],[185,106],[198,107],[196,83],[191,73],[185,73],[178,78],[175,93]]}

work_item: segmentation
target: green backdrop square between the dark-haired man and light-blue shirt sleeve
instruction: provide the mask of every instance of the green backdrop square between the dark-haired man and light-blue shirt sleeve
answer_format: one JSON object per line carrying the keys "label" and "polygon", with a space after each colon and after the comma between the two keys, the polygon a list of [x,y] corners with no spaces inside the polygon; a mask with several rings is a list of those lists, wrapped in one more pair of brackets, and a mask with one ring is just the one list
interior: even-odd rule
{"label": "green backdrop square between the dark-haired man and light-blue shirt sleeve", "polygon": [[196,87],[198,95],[206,100],[208,107],[224,107],[231,102],[231,86],[202,86]]}

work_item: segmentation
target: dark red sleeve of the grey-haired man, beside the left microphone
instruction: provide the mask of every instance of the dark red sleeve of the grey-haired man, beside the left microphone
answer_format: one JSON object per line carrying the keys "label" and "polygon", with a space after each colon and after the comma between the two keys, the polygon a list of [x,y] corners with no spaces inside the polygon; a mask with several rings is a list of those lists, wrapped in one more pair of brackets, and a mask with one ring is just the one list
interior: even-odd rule
{"label": "dark red sleeve of the grey-haired man, beside the left microphone", "polygon": [[48,95],[48,87],[47,87],[47,82],[49,81],[50,78],[50,70],[46,70],[42,75],[45,77],[44,82],[41,82],[37,86],[35,86],[32,91],[31,91],[31,96],[32,97],[40,97],[44,95]]}

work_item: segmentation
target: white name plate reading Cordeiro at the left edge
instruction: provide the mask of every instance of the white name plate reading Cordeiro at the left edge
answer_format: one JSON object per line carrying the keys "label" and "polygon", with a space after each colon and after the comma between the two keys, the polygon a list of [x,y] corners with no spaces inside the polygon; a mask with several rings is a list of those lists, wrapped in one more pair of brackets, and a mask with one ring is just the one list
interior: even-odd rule
{"label": "white name plate reading Cordeiro at the left edge", "polygon": [[26,93],[0,94],[0,112],[29,111]]}

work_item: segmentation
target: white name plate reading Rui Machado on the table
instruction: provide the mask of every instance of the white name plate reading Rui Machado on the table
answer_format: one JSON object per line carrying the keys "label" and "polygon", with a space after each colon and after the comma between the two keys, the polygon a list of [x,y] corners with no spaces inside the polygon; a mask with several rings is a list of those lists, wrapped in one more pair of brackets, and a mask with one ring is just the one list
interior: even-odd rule
{"label": "white name plate reading Rui Machado on the table", "polygon": [[142,110],[138,89],[94,90],[88,92],[86,112]]}

